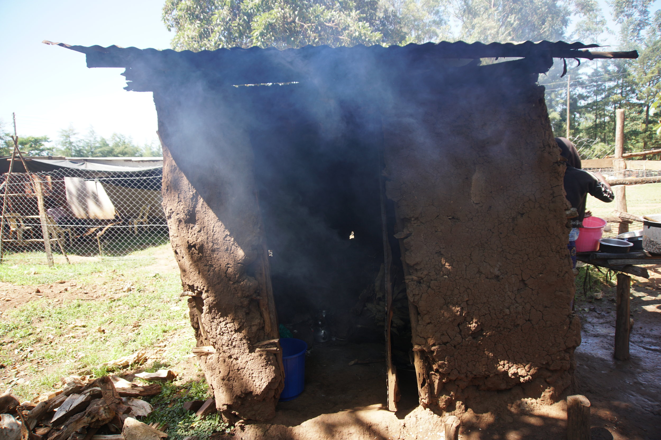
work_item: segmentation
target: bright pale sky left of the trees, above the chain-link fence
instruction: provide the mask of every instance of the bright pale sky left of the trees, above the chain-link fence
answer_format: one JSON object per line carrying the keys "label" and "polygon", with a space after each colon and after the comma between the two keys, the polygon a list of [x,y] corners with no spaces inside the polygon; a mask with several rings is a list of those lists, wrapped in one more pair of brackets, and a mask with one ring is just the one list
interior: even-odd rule
{"label": "bright pale sky left of the trees, above the chain-link fence", "polygon": [[[0,120],[17,114],[19,135],[56,139],[69,124],[81,133],[157,139],[151,92],[126,92],[124,69],[87,69],[85,55],[42,40],[81,46],[167,49],[163,0],[0,0]],[[9,130],[7,130],[9,131]]]}

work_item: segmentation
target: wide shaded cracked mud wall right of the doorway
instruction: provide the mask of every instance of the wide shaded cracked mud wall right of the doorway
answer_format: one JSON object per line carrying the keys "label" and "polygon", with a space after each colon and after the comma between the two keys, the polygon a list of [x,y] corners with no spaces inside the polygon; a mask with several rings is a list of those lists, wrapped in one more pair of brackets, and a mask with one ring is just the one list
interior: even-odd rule
{"label": "wide shaded cracked mud wall right of the doorway", "polygon": [[402,93],[383,119],[420,397],[444,412],[548,404],[570,385],[580,324],[564,166],[535,80]]}

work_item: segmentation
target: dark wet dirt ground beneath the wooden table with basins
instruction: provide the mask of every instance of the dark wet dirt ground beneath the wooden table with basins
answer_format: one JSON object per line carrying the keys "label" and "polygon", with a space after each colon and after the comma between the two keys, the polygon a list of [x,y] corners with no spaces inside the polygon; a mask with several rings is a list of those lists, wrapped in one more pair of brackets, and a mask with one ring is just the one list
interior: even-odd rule
{"label": "dark wet dirt ground beneath the wooden table with basins", "polygon": [[648,267],[650,280],[634,277],[631,359],[613,358],[615,289],[603,299],[576,305],[582,344],[576,350],[576,393],[592,403],[593,439],[661,438],[661,270]]}

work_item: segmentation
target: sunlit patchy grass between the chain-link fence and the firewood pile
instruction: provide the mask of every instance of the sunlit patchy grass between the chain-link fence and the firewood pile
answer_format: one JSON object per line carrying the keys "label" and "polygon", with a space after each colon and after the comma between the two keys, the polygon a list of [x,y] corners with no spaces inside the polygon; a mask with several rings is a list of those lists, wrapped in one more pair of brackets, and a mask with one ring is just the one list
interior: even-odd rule
{"label": "sunlit patchy grass between the chain-link fence and the firewood pile", "polygon": [[[153,255],[153,254],[152,254]],[[22,286],[38,286],[56,280],[75,280],[77,287],[95,286],[99,298],[57,300],[33,299],[3,313],[0,321],[0,376],[25,372],[29,383],[15,385],[13,392],[24,399],[71,373],[126,356],[174,333],[185,332],[182,343],[170,344],[163,354],[169,363],[183,359],[194,346],[188,324],[186,300],[178,271],[159,274],[149,267],[153,259],[108,260],[73,265],[0,265],[0,280]],[[25,274],[26,268],[36,274]],[[127,289],[127,286],[130,286]],[[125,290],[128,290],[125,292]],[[73,327],[79,319],[85,327]],[[104,331],[98,331],[104,330]],[[10,342],[11,341],[11,342]],[[13,366],[18,369],[7,371]],[[7,385],[7,383],[5,383]]]}

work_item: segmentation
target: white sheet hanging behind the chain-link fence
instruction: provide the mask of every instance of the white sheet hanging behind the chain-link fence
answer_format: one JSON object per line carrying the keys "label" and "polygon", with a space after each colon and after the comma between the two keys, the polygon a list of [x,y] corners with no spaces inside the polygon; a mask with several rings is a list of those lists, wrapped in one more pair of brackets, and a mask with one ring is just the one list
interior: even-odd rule
{"label": "white sheet hanging behind the chain-link fence", "polygon": [[115,207],[100,182],[81,177],[64,177],[64,187],[69,208],[77,218],[115,218]]}

